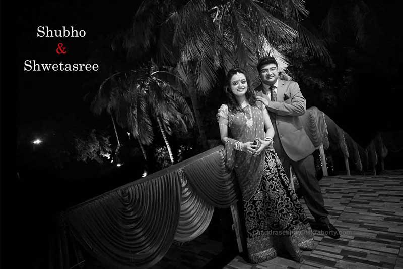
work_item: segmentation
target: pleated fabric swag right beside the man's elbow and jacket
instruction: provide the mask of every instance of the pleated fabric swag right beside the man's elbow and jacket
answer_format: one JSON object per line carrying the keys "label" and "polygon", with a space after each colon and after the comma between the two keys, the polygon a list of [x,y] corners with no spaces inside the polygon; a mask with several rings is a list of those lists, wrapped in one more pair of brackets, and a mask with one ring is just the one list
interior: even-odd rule
{"label": "pleated fabric swag right beside the man's elbow and jacket", "polygon": [[325,122],[321,111],[315,106],[309,107],[300,119],[313,146],[318,148],[322,143],[325,133]]}

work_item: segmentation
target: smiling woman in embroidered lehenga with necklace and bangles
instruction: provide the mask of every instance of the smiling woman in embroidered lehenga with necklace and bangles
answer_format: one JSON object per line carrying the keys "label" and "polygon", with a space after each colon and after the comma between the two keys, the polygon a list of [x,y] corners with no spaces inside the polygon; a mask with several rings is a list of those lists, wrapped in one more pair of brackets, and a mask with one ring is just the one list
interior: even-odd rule
{"label": "smiling woman in embroidered lehenga with necklace and bangles", "polygon": [[267,110],[256,103],[241,68],[228,72],[225,92],[228,101],[217,118],[226,164],[234,169],[242,193],[248,259],[259,263],[288,252],[301,262],[301,249],[313,247],[313,233],[274,152]]}

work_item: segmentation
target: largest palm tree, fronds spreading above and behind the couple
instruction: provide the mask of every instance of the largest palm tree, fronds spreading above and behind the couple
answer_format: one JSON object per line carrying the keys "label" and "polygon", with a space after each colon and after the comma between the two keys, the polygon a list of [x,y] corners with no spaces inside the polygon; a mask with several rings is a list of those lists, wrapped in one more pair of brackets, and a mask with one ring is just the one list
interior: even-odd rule
{"label": "largest palm tree, fronds spreading above and behind the couple", "polygon": [[288,60],[276,47],[296,41],[331,63],[323,43],[300,23],[307,15],[303,0],[145,0],[123,47],[130,57],[144,51],[175,68],[187,85],[206,147],[197,95],[214,88],[220,70],[242,66],[255,74],[256,83],[257,58],[272,55],[285,71]]}

